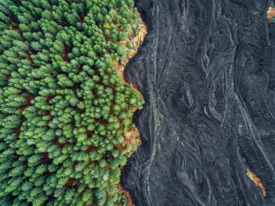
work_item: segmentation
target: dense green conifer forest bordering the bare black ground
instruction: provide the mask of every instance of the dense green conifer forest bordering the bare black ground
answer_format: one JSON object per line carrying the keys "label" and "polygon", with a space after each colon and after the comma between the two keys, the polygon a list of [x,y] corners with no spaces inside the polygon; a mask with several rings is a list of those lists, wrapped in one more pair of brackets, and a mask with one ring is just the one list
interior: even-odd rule
{"label": "dense green conifer forest bordering the bare black ground", "polygon": [[0,205],[127,205],[132,0],[0,0]]}

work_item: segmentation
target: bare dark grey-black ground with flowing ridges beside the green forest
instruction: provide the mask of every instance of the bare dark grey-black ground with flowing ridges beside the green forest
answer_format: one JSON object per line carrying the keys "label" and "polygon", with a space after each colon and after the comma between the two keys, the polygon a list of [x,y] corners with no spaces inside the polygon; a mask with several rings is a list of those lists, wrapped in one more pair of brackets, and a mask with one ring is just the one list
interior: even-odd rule
{"label": "bare dark grey-black ground with flowing ridges beside the green forest", "polygon": [[121,180],[135,206],[275,205],[269,6],[267,0],[136,2],[148,34],[125,77],[146,103],[134,115],[142,145]]}

